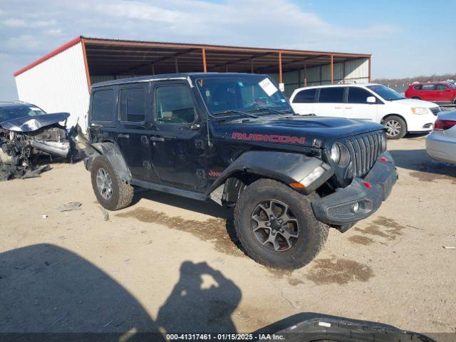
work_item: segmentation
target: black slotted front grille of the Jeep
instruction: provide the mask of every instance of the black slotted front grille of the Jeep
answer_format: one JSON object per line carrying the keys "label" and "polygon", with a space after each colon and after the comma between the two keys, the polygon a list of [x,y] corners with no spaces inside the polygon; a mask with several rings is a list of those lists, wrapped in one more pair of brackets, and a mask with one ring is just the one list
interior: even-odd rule
{"label": "black slotted front grille of the Jeep", "polygon": [[[382,144],[382,140],[384,141]],[[353,176],[364,177],[373,167],[380,153],[385,152],[382,145],[386,145],[383,131],[357,135],[346,140],[346,147],[350,152],[353,164]]]}

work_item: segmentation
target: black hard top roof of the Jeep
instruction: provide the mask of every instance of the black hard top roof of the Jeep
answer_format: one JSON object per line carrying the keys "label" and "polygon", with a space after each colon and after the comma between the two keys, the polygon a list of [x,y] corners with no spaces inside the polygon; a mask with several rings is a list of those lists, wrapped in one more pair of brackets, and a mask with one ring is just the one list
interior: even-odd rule
{"label": "black hard top roof of the Jeep", "polygon": [[130,78],[120,78],[118,80],[105,81],[100,83],[94,83],[93,88],[105,87],[105,86],[115,86],[123,83],[135,83],[135,82],[147,82],[147,81],[157,81],[164,79],[184,79],[184,78],[226,78],[226,77],[268,77],[259,73],[163,73],[161,75],[149,75],[149,76],[138,76]]}

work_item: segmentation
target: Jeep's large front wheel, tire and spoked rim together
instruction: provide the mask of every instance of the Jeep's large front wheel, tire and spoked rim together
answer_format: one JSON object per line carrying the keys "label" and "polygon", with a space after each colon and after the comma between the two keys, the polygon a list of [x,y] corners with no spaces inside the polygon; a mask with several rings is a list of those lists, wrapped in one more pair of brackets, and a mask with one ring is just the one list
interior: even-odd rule
{"label": "Jeep's large front wheel, tire and spoked rim together", "polygon": [[[316,196],[306,197],[281,182],[269,179],[257,180],[249,185],[239,196],[234,208],[236,234],[247,255],[259,264],[276,269],[299,269],[309,264],[326,242],[329,229],[326,224],[318,222],[314,216],[311,198],[316,198]],[[270,204],[271,201],[274,202],[274,207]],[[279,229],[274,234],[276,237],[274,243],[261,243],[273,237],[273,229],[258,229],[260,224],[253,217],[259,219],[261,214],[263,217],[266,214],[266,211],[262,209],[259,209],[259,212],[257,211],[259,204],[266,205],[266,209],[279,210],[278,207],[281,209],[282,204],[289,208],[286,214],[288,217],[294,218],[295,221],[282,227],[287,229],[284,233],[293,231],[296,236],[290,238],[291,243],[285,241],[284,235],[279,232]],[[279,219],[284,216],[279,213],[275,217]],[[275,220],[273,224],[270,223],[271,221],[269,224],[276,227],[277,221],[275,218],[273,220]],[[284,220],[287,221],[286,218]],[[263,221],[261,220],[261,222]],[[267,223],[261,223],[261,225],[265,224]],[[289,228],[291,229],[289,230]],[[256,232],[254,232],[255,229],[257,229]],[[280,229],[283,230],[283,228]],[[280,247],[285,247],[276,250],[275,243],[280,244]]]}

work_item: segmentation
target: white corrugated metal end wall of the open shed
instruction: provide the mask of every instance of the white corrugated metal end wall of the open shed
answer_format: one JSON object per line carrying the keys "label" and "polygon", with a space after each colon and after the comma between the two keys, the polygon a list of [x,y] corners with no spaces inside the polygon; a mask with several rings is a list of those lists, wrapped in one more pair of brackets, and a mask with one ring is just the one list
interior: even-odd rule
{"label": "white corrugated metal end wall of the open shed", "polygon": [[16,76],[19,100],[47,113],[68,112],[68,128],[86,130],[89,91],[81,43]]}

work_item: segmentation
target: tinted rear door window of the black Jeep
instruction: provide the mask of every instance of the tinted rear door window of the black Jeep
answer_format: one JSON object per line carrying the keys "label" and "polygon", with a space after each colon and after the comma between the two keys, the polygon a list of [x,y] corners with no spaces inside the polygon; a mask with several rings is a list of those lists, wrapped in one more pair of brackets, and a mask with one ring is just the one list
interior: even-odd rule
{"label": "tinted rear door window of the black Jeep", "polygon": [[120,90],[120,121],[144,122],[146,95],[146,88]]}

